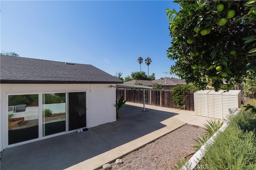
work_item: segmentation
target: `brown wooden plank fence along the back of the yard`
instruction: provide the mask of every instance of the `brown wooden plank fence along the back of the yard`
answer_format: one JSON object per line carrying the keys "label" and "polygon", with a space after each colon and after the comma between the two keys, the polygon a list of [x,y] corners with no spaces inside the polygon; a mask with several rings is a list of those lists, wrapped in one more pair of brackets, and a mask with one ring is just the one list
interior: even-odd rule
{"label": "brown wooden plank fence along the back of the yard", "polygon": [[[120,98],[126,93],[128,102],[143,104],[142,89],[116,89],[116,98]],[[176,108],[172,102],[172,90],[148,90],[145,89],[145,104]],[[185,110],[194,111],[194,93],[187,92],[185,99]]]}

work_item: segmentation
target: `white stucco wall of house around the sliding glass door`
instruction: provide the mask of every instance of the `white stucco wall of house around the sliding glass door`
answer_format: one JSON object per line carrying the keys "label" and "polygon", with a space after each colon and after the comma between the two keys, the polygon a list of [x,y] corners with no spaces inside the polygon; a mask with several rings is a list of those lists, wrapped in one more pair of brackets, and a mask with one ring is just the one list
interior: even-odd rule
{"label": "white stucco wall of house around the sliding glass door", "polygon": [[[103,123],[116,121],[116,90],[110,88],[111,84],[1,84],[0,85],[0,142],[3,149],[2,140],[4,135],[3,119],[4,92],[83,92],[86,91],[87,105],[87,127],[94,127]],[[112,84],[115,86],[115,84]],[[4,104],[5,103],[5,104]],[[5,105],[5,106],[4,106]],[[8,110],[7,110],[8,112]],[[6,113],[7,114],[7,113]],[[6,122],[7,123],[7,122]]]}

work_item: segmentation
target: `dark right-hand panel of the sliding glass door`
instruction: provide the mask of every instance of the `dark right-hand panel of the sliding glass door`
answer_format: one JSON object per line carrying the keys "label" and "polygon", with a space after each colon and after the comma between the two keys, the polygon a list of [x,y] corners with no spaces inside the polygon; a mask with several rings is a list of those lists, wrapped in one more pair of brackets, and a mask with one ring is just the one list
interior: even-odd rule
{"label": "dark right-hand panel of the sliding glass door", "polygon": [[86,92],[68,93],[68,131],[86,127]]}

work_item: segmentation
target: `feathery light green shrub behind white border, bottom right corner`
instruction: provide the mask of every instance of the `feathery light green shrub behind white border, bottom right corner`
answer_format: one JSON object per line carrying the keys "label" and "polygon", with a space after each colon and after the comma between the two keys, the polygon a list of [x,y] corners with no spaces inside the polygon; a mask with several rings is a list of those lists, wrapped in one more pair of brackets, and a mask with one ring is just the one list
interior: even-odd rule
{"label": "feathery light green shrub behind white border, bottom right corner", "polygon": [[215,138],[214,144],[207,147],[200,164],[211,170],[256,169],[255,121],[255,113],[250,110],[238,113],[229,127]]}

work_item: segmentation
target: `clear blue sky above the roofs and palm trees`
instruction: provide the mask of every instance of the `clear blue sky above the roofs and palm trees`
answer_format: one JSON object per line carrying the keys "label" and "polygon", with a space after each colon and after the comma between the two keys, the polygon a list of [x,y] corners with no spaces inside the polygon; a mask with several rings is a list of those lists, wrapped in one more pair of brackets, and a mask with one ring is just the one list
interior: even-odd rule
{"label": "clear blue sky above the roofs and palm trees", "polygon": [[[138,57],[150,57],[149,74],[169,75],[174,64],[166,8],[172,1],[4,1],[0,51],[20,57],[92,64],[122,77],[140,71]],[[148,72],[143,62],[142,71]]]}

